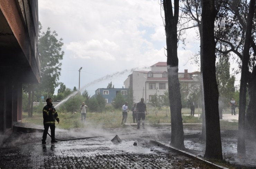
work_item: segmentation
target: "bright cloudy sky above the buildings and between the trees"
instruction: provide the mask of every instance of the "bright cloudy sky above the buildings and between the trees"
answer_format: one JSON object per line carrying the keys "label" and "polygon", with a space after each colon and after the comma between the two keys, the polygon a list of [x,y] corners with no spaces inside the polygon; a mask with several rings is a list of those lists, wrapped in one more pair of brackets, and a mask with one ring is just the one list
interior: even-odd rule
{"label": "bright cloudy sky above the buildings and between the trees", "polygon": [[[39,0],[38,3],[43,31],[50,27],[57,32],[57,39],[63,38],[65,55],[59,82],[68,88],[78,88],[80,67],[80,88],[86,86],[92,96],[96,89],[106,88],[111,81],[115,88],[128,87],[124,81],[132,68],[149,70],[145,67],[166,62],[164,11],[158,0]],[[195,30],[188,30],[185,46],[180,43],[178,47],[179,72],[200,70],[191,60],[198,51]],[[99,78],[103,80],[97,81]]]}

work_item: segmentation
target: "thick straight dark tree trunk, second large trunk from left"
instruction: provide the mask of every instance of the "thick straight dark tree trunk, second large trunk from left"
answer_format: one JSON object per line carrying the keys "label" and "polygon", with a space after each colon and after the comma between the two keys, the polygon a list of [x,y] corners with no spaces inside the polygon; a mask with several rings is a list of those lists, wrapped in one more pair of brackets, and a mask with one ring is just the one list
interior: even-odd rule
{"label": "thick straight dark tree trunk, second large trunk from left", "polygon": [[217,11],[214,0],[202,1],[202,73],[206,124],[205,157],[222,160],[218,86],[216,81],[214,21]]}

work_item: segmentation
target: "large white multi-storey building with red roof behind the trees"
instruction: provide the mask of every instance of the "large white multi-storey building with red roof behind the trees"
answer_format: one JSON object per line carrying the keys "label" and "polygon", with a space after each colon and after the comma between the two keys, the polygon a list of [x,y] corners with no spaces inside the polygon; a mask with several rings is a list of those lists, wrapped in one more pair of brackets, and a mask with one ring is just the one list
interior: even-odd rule
{"label": "large white multi-storey building with red roof behind the trees", "polygon": [[[167,63],[158,62],[150,68],[150,71],[133,71],[124,82],[125,88],[132,89],[135,103],[138,103],[140,98],[149,102],[156,91],[158,95],[164,95],[168,90]],[[184,72],[179,73],[180,84],[188,88],[194,83],[199,83],[199,77],[198,71],[188,73],[185,69]]]}

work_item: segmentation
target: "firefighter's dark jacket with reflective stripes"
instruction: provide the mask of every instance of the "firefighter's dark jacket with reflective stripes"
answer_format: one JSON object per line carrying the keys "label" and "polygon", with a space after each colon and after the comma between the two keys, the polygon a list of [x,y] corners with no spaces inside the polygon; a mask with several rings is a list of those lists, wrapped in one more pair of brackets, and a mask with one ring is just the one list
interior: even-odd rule
{"label": "firefighter's dark jacket with reflective stripes", "polygon": [[[52,110],[49,110],[49,109],[52,109]],[[58,117],[58,113],[55,110],[52,103],[51,103],[51,105],[47,104],[46,106],[44,106],[44,108],[43,108],[43,118],[44,118],[44,125],[55,124],[55,120],[57,120],[57,122],[60,121],[60,119]]]}

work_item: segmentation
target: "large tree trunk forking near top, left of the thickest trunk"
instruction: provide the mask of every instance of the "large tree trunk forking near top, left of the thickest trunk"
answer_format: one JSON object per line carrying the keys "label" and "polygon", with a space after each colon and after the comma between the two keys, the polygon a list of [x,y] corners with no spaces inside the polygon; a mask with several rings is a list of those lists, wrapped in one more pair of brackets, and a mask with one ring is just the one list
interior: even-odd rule
{"label": "large tree trunk forking near top, left of the thickest trunk", "polygon": [[181,93],[178,78],[179,59],[177,56],[177,23],[179,18],[179,0],[163,1],[165,13],[165,34],[167,50],[168,90],[171,110],[171,143],[170,145],[184,149],[184,132],[181,116]]}

